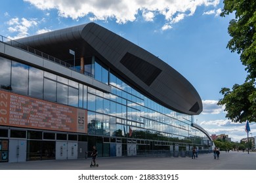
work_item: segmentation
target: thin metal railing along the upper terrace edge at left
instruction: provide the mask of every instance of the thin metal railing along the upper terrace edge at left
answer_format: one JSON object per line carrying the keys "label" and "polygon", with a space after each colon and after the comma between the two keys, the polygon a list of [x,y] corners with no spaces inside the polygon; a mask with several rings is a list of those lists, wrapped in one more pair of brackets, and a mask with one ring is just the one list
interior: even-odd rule
{"label": "thin metal railing along the upper terrace edge at left", "polygon": [[68,67],[68,69],[72,69],[72,71],[75,71],[77,73],[81,73],[86,76],[90,76],[94,78],[94,76],[91,73],[88,73],[86,71],[83,71],[81,69],[77,69],[74,67],[74,65],[71,65],[70,63],[66,63],[65,61],[62,61],[61,59],[54,58],[53,56],[50,56],[49,54],[45,54],[44,52],[41,52],[39,50],[36,50],[35,48],[32,48],[30,46],[27,46],[25,44],[21,44],[20,42],[14,41],[12,39],[9,39],[7,37],[4,37],[3,35],[0,35],[0,42],[4,42],[5,44],[8,44],[10,46],[13,46],[15,48],[18,48],[20,50],[24,50],[26,52],[30,52],[30,54],[33,54],[35,56],[39,56],[41,58],[48,59],[49,61],[53,61],[54,63],[58,63],[59,65],[62,65],[64,67]]}

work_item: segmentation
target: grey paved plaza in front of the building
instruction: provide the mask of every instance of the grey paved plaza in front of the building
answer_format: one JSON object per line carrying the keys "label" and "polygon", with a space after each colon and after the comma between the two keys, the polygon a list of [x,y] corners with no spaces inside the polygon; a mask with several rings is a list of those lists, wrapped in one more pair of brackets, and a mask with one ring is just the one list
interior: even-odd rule
{"label": "grey paved plaza in front of the building", "polygon": [[173,157],[97,158],[98,167],[90,167],[91,158],[0,163],[0,170],[256,170],[256,152],[199,154],[198,159]]}

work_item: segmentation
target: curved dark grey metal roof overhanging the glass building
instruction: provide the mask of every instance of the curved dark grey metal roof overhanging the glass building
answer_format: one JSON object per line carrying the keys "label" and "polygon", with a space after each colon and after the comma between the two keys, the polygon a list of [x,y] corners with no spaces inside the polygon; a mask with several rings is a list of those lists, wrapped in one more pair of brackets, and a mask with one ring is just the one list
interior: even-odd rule
{"label": "curved dark grey metal roof overhanging the glass building", "polygon": [[175,69],[136,44],[95,23],[77,25],[17,40],[55,58],[96,56],[154,101],[185,114],[200,114],[202,100]]}

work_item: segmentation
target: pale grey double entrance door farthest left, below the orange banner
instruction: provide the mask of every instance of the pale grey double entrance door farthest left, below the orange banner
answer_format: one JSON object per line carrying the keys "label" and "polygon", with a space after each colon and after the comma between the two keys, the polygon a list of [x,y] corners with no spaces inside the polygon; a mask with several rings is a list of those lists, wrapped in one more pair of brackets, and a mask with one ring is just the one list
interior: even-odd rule
{"label": "pale grey double entrance door farthest left, below the orange banner", "polygon": [[9,162],[26,161],[27,141],[9,140]]}

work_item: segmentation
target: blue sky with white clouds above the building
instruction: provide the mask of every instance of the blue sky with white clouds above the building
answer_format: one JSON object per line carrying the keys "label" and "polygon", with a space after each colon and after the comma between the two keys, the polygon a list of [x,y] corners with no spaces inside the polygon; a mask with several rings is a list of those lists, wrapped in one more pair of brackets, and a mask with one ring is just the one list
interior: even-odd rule
{"label": "blue sky with white clouds above the building", "polygon": [[[217,105],[221,88],[242,84],[247,73],[226,45],[229,21],[220,0],[2,0],[0,35],[10,39],[95,22],[171,65],[200,94],[203,112],[194,116],[210,135],[232,141],[247,137],[245,123],[225,118]],[[256,124],[250,124],[256,136]]]}

